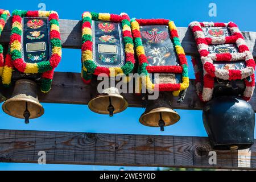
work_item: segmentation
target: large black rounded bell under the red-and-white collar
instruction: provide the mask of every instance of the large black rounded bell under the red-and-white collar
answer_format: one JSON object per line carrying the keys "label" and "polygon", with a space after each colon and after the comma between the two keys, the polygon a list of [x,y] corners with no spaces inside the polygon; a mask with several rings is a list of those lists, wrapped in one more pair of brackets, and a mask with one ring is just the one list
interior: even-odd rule
{"label": "large black rounded bell under the red-and-white collar", "polygon": [[209,101],[203,121],[214,150],[242,150],[254,143],[254,110],[240,97],[220,96]]}

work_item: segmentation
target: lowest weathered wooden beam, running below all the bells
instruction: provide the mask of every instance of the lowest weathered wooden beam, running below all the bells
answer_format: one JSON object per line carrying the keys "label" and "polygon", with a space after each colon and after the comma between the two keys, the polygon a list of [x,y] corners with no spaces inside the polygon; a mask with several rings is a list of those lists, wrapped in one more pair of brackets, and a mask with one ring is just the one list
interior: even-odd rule
{"label": "lowest weathered wooden beam, running below all the bells", "polygon": [[37,163],[44,151],[47,164],[256,169],[255,146],[216,151],[217,163],[209,164],[204,137],[0,130],[0,162],[11,163]]}

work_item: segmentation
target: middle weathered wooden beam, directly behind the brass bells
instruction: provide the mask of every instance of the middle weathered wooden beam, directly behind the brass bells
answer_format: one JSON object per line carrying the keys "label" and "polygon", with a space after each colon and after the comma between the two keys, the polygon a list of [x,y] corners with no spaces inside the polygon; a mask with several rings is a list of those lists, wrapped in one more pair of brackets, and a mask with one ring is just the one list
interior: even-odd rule
{"label": "middle weathered wooden beam, directly behind the brass bells", "polygon": [[[174,109],[201,110],[203,103],[199,100],[195,91],[195,80],[190,80],[190,85],[187,90],[187,95],[182,103],[177,103],[177,97],[172,97],[170,100]],[[0,92],[7,98],[10,98],[13,92],[13,86],[9,89],[3,89],[0,86]],[[49,93],[44,94],[38,92],[40,102],[59,103],[59,104],[88,104],[93,97],[91,94],[92,87],[82,82],[80,73],[70,72],[55,72],[52,82],[52,89]],[[137,94],[124,93],[123,97],[129,103],[129,107],[143,107],[141,96]],[[250,101],[254,111],[256,111],[256,93]]]}

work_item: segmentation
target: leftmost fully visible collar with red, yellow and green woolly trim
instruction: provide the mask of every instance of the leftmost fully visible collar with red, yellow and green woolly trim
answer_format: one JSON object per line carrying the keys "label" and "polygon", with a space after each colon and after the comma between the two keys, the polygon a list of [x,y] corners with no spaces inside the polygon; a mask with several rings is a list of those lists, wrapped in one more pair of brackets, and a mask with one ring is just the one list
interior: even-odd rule
{"label": "leftmost fully visible collar with red, yellow and green woolly trim", "polygon": [[[33,52],[35,52],[34,48],[36,48],[36,50],[45,49],[46,45],[41,42],[36,44],[36,47],[31,46],[31,43],[26,44],[27,50],[31,52],[27,54],[26,59],[32,61],[32,63],[23,60],[23,18],[27,18],[26,28],[28,27],[31,29],[31,31],[29,31],[30,34],[26,36],[26,39],[28,39],[28,41],[34,39],[43,39],[44,37],[46,37],[46,35],[41,34],[40,31],[38,31],[38,28],[42,27],[43,24],[49,22],[49,59],[40,61],[46,56],[44,52],[42,52],[40,55],[33,55]],[[48,20],[43,18],[47,18]],[[56,11],[15,10],[13,12],[11,37],[9,44],[10,55],[6,56],[6,63],[2,77],[2,82],[4,85],[8,86],[11,84],[13,70],[17,69],[19,72],[25,74],[42,73],[42,92],[48,92],[51,89],[53,71],[61,60],[61,40],[58,21],[59,16],[57,15]]]}

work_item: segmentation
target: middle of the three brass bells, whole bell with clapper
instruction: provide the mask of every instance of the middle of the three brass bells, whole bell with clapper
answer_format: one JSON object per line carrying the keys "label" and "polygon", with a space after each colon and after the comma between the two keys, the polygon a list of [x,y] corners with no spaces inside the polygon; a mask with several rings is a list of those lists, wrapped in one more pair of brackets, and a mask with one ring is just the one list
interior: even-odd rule
{"label": "middle of the three brass bells, whole bell with clapper", "polygon": [[90,110],[99,114],[109,114],[110,117],[115,113],[122,112],[127,106],[127,101],[115,87],[104,89],[101,94],[97,93],[97,96],[88,103]]}

